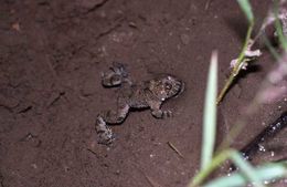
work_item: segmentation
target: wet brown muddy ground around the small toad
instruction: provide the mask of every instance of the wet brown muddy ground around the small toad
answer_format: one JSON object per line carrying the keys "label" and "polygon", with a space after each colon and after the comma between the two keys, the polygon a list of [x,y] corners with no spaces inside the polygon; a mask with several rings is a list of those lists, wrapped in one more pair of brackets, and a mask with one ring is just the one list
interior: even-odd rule
{"label": "wet brown muddy ground around the small toad", "polygon": [[[253,1],[256,18],[265,15],[268,3]],[[0,0],[0,4],[1,187],[189,183],[199,168],[211,52],[219,51],[222,87],[246,31],[236,1]],[[220,105],[219,139],[243,115],[273,66],[265,52],[256,71],[242,77]],[[187,89],[163,105],[173,117],[130,113],[123,125],[113,126],[117,138],[106,147],[97,144],[94,125],[102,110],[116,104],[116,90],[100,84],[100,72],[113,61],[127,64],[136,81],[172,73]],[[286,107],[286,100],[262,106],[233,146],[244,146]]]}

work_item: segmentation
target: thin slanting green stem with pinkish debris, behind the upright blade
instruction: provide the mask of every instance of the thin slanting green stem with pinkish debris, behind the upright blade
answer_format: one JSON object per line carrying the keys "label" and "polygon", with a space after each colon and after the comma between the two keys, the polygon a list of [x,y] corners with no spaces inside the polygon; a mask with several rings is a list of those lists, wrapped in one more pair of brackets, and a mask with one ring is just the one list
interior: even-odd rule
{"label": "thin slanting green stem with pinkish debris, behind the upright blade", "polygon": [[252,31],[253,31],[253,28],[254,28],[254,22],[251,22],[249,27],[248,27],[248,30],[247,30],[247,34],[246,34],[246,38],[245,38],[245,41],[244,41],[244,45],[242,48],[242,51],[240,53],[240,56],[237,59],[237,62],[236,64],[234,65],[233,70],[232,70],[232,73],[228,77],[228,80],[226,81],[225,85],[223,86],[223,89],[221,90],[220,92],[220,95],[216,100],[216,104],[219,104],[223,97],[225,96],[226,92],[228,91],[231,84],[233,83],[233,81],[235,80],[235,77],[238,75],[241,69],[242,69],[242,65],[243,63],[245,63],[245,51],[247,50],[247,46],[248,46],[248,42],[251,40],[251,34],[252,34]]}

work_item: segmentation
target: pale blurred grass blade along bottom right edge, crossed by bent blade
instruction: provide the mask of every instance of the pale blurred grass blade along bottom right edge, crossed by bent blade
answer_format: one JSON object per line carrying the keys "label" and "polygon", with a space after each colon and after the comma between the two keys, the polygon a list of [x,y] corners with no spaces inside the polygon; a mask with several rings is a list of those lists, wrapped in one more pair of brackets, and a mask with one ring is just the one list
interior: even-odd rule
{"label": "pale blurred grass blade along bottom right edge, crossed by bent blade", "polygon": [[[287,177],[287,167],[286,163],[284,164],[265,164],[258,168],[254,169],[256,176],[261,179],[261,181],[279,179],[283,177]],[[204,185],[204,187],[240,187],[245,186],[247,184],[246,178],[240,174],[233,174],[231,176],[224,176],[217,179],[210,181]]]}

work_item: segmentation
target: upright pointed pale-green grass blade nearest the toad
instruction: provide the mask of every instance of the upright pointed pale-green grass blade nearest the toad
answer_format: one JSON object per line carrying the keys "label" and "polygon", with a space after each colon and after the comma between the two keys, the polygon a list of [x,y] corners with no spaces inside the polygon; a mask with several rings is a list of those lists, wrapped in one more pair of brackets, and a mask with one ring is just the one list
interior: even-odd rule
{"label": "upright pointed pale-green grass blade nearest the toad", "polygon": [[203,138],[201,153],[201,169],[205,168],[213,157],[216,126],[216,95],[217,95],[217,52],[213,52],[205,92],[203,114]]}

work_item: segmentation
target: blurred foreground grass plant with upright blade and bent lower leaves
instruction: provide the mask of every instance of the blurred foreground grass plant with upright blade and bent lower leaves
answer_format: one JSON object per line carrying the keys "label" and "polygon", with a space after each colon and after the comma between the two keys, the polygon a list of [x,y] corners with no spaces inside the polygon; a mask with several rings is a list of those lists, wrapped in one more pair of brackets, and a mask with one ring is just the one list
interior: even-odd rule
{"label": "blurred foreground grass plant with upright blade and bent lower leaves", "polygon": [[[209,175],[220,167],[225,160],[232,159],[241,172],[234,173],[231,177],[220,177],[203,186],[205,187],[232,187],[243,186],[248,183],[254,183],[256,187],[263,187],[263,180],[277,179],[287,176],[287,163],[264,164],[257,168],[251,166],[242,155],[231,148],[221,150],[213,156],[213,143],[215,139],[216,127],[216,71],[217,71],[217,54],[213,52],[208,79],[208,89],[205,94],[204,123],[203,123],[203,143],[201,156],[201,170],[194,176],[189,184],[189,187],[202,185]],[[208,142],[208,144],[205,144]]]}

